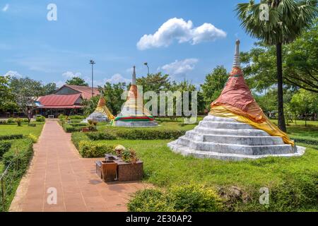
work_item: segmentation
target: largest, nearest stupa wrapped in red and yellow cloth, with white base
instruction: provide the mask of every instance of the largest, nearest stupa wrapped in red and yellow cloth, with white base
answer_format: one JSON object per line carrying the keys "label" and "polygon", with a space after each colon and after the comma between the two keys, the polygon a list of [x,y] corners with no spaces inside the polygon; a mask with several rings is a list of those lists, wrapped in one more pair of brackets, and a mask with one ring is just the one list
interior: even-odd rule
{"label": "largest, nearest stupa wrapped in red and yellow cloth, with white base", "polygon": [[182,155],[221,160],[303,155],[305,148],[295,146],[287,134],[271,124],[252,97],[240,70],[239,44],[237,41],[230,78],[212,103],[211,112],[168,146]]}

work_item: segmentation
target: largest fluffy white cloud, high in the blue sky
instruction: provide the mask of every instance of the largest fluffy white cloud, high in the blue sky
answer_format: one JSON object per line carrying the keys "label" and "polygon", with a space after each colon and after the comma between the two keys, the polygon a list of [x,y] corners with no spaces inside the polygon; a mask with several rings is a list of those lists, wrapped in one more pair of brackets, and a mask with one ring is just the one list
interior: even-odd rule
{"label": "largest fluffy white cloud, high in the blue sky", "polygon": [[222,37],[226,37],[226,33],[211,23],[204,23],[199,27],[194,27],[191,20],[185,21],[182,18],[171,18],[163,23],[154,34],[143,35],[137,43],[137,47],[140,50],[168,47],[174,40],[179,43],[199,44],[200,42],[210,42]]}

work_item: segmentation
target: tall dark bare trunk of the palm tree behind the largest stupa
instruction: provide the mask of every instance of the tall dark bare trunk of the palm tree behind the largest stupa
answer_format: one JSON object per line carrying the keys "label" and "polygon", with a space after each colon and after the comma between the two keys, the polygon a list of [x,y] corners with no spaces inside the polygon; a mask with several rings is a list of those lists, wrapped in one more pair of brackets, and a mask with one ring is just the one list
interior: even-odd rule
{"label": "tall dark bare trunk of the palm tree behind the largest stupa", "polygon": [[278,85],[278,128],[286,132],[284,102],[283,102],[283,66],[282,66],[282,44],[276,44],[276,60],[277,60],[277,85]]}

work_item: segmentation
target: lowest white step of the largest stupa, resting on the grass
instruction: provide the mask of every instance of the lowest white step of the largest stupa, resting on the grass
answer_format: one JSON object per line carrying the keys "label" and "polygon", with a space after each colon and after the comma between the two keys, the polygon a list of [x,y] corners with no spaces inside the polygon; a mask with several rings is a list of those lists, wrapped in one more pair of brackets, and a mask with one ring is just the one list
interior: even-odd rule
{"label": "lowest white step of the largest stupa, resting on the grass", "polygon": [[199,158],[214,158],[218,160],[230,160],[230,161],[241,161],[241,160],[256,160],[262,157],[300,157],[304,155],[305,149],[303,147],[295,147],[295,153],[282,154],[282,155],[240,155],[240,154],[230,154],[230,153],[216,153],[216,152],[206,152],[200,150],[190,149],[182,145],[178,145],[177,141],[172,141],[168,143],[167,146],[175,153],[180,153],[184,156],[194,156]]}

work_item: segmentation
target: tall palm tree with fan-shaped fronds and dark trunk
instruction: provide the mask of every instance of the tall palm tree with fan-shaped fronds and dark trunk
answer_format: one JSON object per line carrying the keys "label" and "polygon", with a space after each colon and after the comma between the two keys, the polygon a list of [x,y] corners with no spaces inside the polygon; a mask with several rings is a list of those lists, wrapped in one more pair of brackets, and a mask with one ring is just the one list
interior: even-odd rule
{"label": "tall palm tree with fan-shaped fronds and dark trunk", "polygon": [[[269,20],[261,20],[260,4],[269,6]],[[283,110],[282,45],[293,42],[304,30],[310,28],[317,17],[317,0],[261,0],[255,4],[237,4],[237,16],[241,25],[252,37],[265,44],[276,45],[278,85],[278,127],[286,131]]]}

